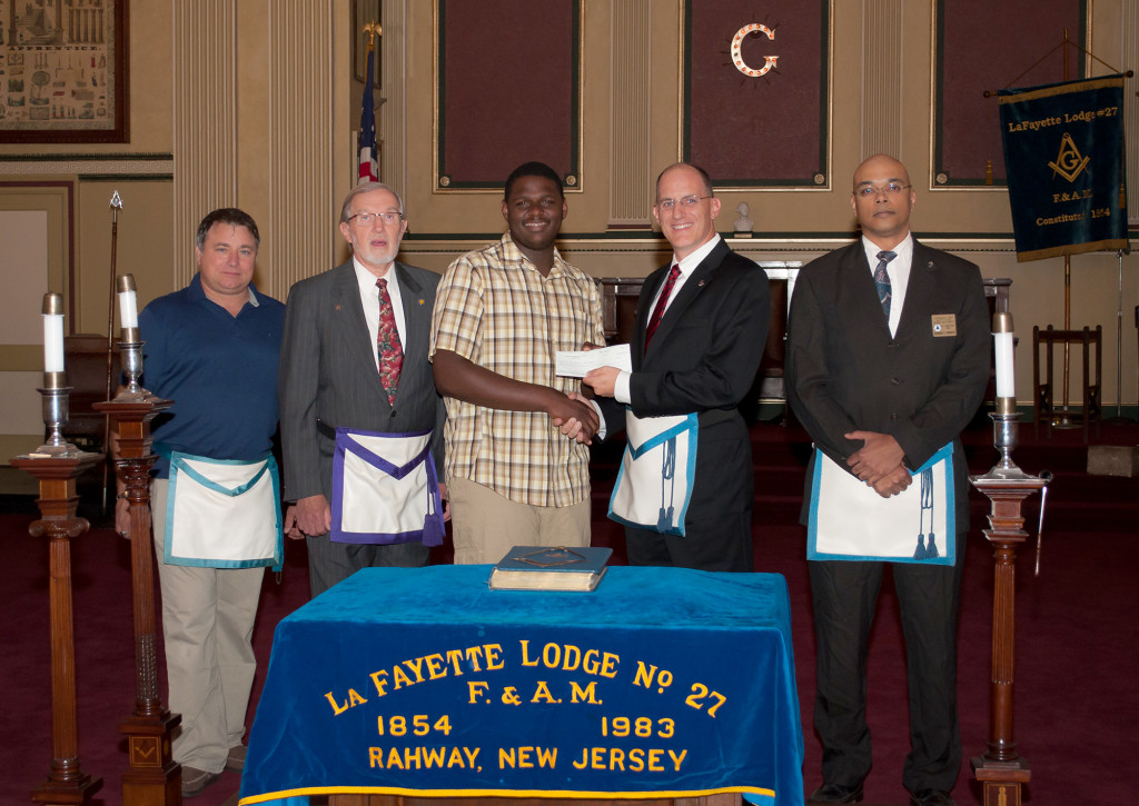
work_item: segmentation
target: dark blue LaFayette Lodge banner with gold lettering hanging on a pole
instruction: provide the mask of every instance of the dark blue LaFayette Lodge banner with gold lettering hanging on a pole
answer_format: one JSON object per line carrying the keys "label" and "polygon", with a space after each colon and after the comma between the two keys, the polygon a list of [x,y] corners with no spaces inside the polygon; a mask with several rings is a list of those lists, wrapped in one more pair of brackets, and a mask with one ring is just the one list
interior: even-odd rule
{"label": "dark blue LaFayette Lodge banner with gold lettering hanging on a pole", "polygon": [[1017,261],[1124,248],[1123,75],[998,100]]}

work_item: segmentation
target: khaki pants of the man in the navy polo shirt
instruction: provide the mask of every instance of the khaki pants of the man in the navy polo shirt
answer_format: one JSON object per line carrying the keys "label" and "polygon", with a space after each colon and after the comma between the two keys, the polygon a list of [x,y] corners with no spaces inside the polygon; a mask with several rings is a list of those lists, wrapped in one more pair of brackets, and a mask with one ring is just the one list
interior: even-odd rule
{"label": "khaki pants of the man in the navy polo shirt", "polygon": [[256,669],[253,619],[265,569],[163,562],[169,486],[165,478],[150,485],[150,511],[162,585],[170,710],[182,715],[173,755],[185,766],[221,772],[229,748],[240,745],[245,735],[245,710]]}

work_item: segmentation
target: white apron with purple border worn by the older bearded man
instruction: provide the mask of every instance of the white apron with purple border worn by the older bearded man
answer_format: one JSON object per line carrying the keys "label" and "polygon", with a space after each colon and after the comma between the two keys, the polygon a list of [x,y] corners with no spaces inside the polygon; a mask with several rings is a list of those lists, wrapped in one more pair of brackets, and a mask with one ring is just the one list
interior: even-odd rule
{"label": "white apron with purple border worn by the older bearded man", "polygon": [[442,545],[443,508],[431,435],[336,429],[330,540]]}

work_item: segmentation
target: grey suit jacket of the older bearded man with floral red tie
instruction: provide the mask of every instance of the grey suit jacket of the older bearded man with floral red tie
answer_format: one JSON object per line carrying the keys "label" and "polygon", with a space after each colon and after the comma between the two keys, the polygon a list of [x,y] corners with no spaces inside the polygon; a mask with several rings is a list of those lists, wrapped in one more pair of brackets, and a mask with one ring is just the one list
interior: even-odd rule
{"label": "grey suit jacket of the older bearded man with floral red tie", "polygon": [[440,275],[403,263],[392,271],[407,332],[394,406],[379,383],[352,262],[289,291],[278,381],[287,500],[318,494],[331,500],[334,441],[325,431],[338,426],[386,433],[434,428],[432,454],[443,467],[446,410],[427,361]]}

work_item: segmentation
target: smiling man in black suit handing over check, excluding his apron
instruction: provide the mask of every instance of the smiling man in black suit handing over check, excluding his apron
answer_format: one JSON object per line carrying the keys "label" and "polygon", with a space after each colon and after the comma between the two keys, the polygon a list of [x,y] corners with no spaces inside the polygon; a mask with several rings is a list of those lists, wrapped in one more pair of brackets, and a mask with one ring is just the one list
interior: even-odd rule
{"label": "smiling man in black suit handing over check, excluding his apron", "polygon": [[763,357],[771,302],[763,270],[716,233],[719,213],[703,168],[679,163],[661,173],[653,215],[673,260],[641,289],[632,372],[585,376],[637,418],[696,414],[698,423],[683,535],[626,525],[630,565],[752,570],[752,444],[739,406]]}

